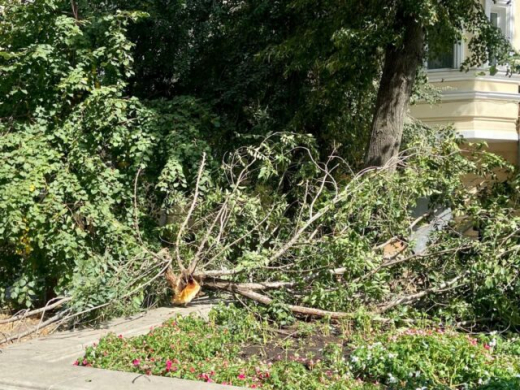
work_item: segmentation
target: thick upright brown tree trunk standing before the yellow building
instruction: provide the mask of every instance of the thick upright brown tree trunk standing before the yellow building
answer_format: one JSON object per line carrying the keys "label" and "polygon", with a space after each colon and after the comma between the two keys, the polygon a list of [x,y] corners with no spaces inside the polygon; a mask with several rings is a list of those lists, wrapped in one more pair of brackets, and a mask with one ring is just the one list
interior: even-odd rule
{"label": "thick upright brown tree trunk standing before the yellow building", "polygon": [[424,57],[422,26],[411,16],[397,18],[396,26],[404,28],[404,37],[399,46],[386,48],[366,166],[383,166],[399,153],[415,75]]}

